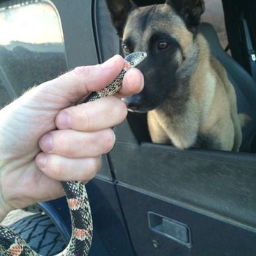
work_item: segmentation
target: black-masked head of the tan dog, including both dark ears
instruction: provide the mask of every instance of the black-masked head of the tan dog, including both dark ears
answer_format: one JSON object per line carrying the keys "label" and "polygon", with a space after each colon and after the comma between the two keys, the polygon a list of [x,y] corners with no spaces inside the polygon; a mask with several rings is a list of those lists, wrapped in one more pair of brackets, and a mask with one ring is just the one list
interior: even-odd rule
{"label": "black-masked head of the tan dog, including both dark ears", "polygon": [[106,0],[113,25],[122,39],[124,55],[148,54],[139,69],[145,78],[140,94],[124,99],[130,110],[146,112],[167,97],[183,97],[192,59],[196,27],[204,10],[203,0],[167,0],[165,4],[137,7],[130,0]]}

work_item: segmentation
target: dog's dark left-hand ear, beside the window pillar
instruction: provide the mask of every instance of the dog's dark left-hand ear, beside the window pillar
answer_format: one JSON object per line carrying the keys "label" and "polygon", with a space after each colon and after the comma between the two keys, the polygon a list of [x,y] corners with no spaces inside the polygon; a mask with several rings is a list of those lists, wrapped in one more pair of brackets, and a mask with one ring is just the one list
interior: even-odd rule
{"label": "dog's dark left-hand ear, beside the window pillar", "polygon": [[137,6],[131,0],[105,0],[110,11],[113,26],[117,30],[119,37],[123,36],[124,26],[129,12]]}

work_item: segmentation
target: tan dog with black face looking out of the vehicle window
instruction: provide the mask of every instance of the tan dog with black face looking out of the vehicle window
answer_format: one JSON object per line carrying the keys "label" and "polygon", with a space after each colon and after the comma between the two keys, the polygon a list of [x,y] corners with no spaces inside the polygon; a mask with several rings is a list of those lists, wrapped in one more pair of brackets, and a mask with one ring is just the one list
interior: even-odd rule
{"label": "tan dog with black face looking out of the vehicle window", "polygon": [[152,142],[239,151],[236,92],[197,29],[204,1],[167,0],[146,7],[131,0],[106,3],[124,55],[148,54],[139,66],[145,88],[124,101],[130,110],[148,113]]}

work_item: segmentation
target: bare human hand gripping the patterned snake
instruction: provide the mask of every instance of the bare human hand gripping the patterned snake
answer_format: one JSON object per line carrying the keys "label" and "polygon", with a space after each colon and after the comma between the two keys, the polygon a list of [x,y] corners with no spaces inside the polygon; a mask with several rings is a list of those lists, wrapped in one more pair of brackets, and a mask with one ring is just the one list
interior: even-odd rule
{"label": "bare human hand gripping the patterned snake", "polygon": [[115,143],[110,127],[127,116],[120,97],[138,93],[143,75],[130,69],[115,96],[74,103],[107,86],[123,67],[121,56],[78,67],[0,110],[0,219],[12,209],[64,195],[60,181],[94,177],[100,156]]}

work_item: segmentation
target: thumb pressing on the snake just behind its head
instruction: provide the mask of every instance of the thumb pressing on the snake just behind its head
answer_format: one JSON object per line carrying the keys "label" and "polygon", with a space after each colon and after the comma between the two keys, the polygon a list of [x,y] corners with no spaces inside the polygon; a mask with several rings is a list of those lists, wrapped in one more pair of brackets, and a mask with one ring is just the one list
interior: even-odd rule
{"label": "thumb pressing on the snake just behind its head", "polygon": [[77,67],[59,78],[37,86],[33,97],[40,103],[53,103],[57,108],[66,108],[91,91],[98,91],[111,83],[124,67],[124,59],[113,56],[103,64]]}

